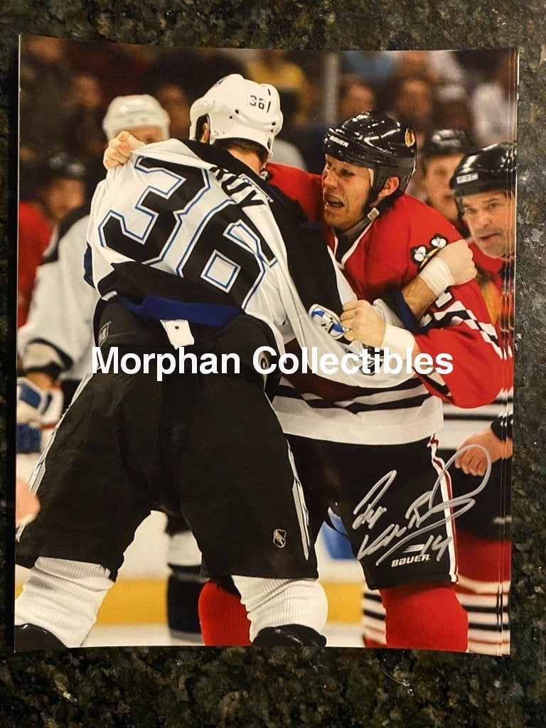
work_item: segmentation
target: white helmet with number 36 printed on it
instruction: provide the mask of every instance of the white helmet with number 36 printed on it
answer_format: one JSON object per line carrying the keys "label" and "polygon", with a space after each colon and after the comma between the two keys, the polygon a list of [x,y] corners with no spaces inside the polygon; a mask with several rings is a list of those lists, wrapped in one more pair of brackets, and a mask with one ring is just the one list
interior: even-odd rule
{"label": "white helmet with number 36 printed on it", "polygon": [[279,92],[271,84],[258,84],[240,74],[224,76],[202,98],[191,104],[189,138],[197,138],[197,121],[207,116],[210,144],[218,139],[246,139],[266,149],[282,129]]}

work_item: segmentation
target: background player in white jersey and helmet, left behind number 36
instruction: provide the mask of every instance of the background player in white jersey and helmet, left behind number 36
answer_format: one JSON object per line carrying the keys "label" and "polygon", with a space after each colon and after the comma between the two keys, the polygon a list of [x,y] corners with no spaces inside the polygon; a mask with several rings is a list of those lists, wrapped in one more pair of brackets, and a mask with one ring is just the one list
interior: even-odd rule
{"label": "background player in white jersey and helmet, left behind number 36", "polygon": [[[108,139],[122,129],[130,130],[142,143],[154,143],[168,138],[169,117],[152,96],[118,96],[108,106],[103,130]],[[89,212],[89,205],[84,205],[60,223],[38,269],[28,320],[17,332],[24,372],[17,387],[17,472],[25,480],[31,476],[52,427],[91,368],[92,317],[99,296],[84,280]],[[39,510],[39,501],[28,491],[25,480],[17,480],[16,521],[21,526],[27,502],[25,513],[35,516]],[[30,520],[27,517],[27,522]],[[201,555],[182,518],[169,518],[167,533],[171,636],[199,639]]]}

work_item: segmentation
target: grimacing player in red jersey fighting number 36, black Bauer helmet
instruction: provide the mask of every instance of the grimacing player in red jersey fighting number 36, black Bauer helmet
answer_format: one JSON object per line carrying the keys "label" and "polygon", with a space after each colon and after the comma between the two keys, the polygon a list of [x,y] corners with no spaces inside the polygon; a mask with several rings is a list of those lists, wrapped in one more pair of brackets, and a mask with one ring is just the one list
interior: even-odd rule
{"label": "grimacing player in red jersey fighting number 36, black Bauer helmet", "polygon": [[[291,435],[304,487],[315,501],[337,503],[368,585],[381,590],[387,646],[464,651],[467,619],[453,589],[454,552],[427,558],[430,534],[403,539],[397,552],[392,533],[405,528],[404,514],[408,518],[419,494],[430,492],[442,471],[433,436],[441,424],[440,399],[467,407],[493,400],[502,387],[502,351],[478,286],[449,288],[451,272],[437,257],[459,233],[404,194],[414,170],[411,130],[383,114],[363,114],[328,132],[325,146],[326,233],[338,264],[365,299],[347,306],[341,317],[348,338],[371,347],[409,347],[414,357],[446,352],[453,357],[453,371],[441,378],[435,372],[420,375],[403,388],[393,387],[388,397],[342,387],[334,393],[318,377],[300,377],[291,385],[282,382],[274,406]],[[409,288],[402,294],[404,287]],[[433,298],[449,288],[426,317],[419,310],[423,287]],[[376,314],[370,302],[379,297],[395,310],[405,331]],[[393,470],[397,477],[382,491],[378,511],[374,483]],[[446,502],[448,477],[440,481]],[[450,524],[443,527],[449,532],[432,542],[453,546]]]}

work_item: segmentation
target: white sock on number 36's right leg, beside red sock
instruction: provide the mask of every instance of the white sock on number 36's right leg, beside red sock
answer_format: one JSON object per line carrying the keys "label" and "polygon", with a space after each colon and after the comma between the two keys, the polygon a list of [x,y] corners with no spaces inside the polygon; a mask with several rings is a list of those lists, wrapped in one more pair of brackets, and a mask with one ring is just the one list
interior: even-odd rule
{"label": "white sock on number 36's right leg, beside red sock", "polygon": [[323,587],[314,579],[232,577],[250,620],[250,640],[265,627],[304,625],[321,632],[328,617]]}

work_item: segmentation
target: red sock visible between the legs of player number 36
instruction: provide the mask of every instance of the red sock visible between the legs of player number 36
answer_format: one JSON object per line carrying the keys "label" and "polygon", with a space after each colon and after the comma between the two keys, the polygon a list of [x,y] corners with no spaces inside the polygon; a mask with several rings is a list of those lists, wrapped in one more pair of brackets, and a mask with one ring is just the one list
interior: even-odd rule
{"label": "red sock visible between the legs of player number 36", "polygon": [[203,641],[209,646],[247,646],[250,642],[247,612],[240,597],[215,582],[207,582],[199,596]]}

